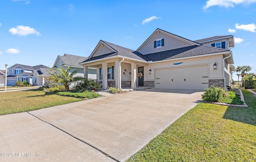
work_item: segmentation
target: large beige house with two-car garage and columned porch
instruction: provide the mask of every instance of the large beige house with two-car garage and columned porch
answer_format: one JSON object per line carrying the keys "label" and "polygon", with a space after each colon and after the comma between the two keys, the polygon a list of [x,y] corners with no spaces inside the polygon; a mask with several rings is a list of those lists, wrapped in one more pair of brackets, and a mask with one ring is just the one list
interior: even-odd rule
{"label": "large beige house with two-car garage and columned porch", "polygon": [[[217,39],[210,38],[209,46],[207,42],[203,45],[156,29],[136,51],[100,40],[90,57],[80,65],[84,66],[85,78],[89,66],[97,68],[97,80],[102,83],[102,89],[138,86],[203,90],[212,84],[226,88],[230,86],[234,71],[230,51],[234,39],[233,36]],[[222,40],[225,47],[218,48],[217,41]],[[217,47],[211,46],[213,42]],[[142,77],[138,78],[140,72]]]}

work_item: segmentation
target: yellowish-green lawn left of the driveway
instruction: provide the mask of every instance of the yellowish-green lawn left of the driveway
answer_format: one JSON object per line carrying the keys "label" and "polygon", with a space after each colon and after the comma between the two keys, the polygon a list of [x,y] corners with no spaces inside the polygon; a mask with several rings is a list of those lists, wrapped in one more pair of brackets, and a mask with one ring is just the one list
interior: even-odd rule
{"label": "yellowish-green lawn left of the driveway", "polygon": [[0,115],[32,111],[84,100],[58,96],[56,93],[45,93],[37,89],[0,93],[0,99]]}

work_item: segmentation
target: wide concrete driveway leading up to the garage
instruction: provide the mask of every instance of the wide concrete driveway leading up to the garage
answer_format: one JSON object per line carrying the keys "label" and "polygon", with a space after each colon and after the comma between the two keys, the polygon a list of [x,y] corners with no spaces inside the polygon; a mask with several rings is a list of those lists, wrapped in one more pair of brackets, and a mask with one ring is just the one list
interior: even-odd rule
{"label": "wide concrete driveway leading up to the garage", "polygon": [[148,89],[0,116],[0,161],[125,161],[202,92]]}

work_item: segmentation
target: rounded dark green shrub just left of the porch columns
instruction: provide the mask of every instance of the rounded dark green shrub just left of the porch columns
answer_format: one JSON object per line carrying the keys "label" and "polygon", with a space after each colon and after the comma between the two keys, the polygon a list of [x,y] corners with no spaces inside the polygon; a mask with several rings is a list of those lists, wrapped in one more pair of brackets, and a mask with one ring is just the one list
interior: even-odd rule
{"label": "rounded dark green shrub just left of the porch columns", "polygon": [[79,78],[79,80],[77,80],[74,84],[75,85],[73,88],[76,90],[97,90],[101,88],[101,84],[99,84],[97,81],[87,78]]}

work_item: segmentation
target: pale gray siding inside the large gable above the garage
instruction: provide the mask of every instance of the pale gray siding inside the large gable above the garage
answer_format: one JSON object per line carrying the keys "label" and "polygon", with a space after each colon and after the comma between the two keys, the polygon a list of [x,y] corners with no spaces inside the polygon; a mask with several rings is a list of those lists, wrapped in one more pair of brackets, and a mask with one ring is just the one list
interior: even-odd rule
{"label": "pale gray siding inside the large gable above the garage", "polygon": [[[164,39],[164,46],[154,48],[154,41],[158,39]],[[144,47],[142,47],[142,49],[140,49],[138,52],[140,52],[142,55],[146,55],[149,53],[162,52],[162,51],[167,51],[171,49],[188,47],[191,45],[192,44],[190,43],[187,43],[175,37],[159,32],[159,34],[156,33],[156,35],[154,35],[154,37],[152,37],[152,39],[146,45],[144,45]]]}

